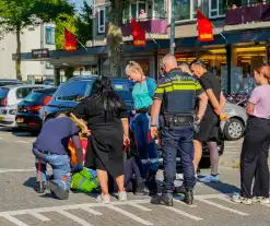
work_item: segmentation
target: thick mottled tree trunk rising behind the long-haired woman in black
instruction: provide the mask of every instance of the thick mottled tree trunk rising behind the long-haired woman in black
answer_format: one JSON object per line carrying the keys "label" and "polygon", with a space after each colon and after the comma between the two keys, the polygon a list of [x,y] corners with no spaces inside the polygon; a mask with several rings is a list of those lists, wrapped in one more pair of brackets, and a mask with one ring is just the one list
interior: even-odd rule
{"label": "thick mottled tree trunk rising behind the long-haired woman in black", "polygon": [[111,76],[120,75],[121,48],[122,48],[122,16],[128,9],[130,0],[109,0],[110,17],[107,33],[108,59]]}

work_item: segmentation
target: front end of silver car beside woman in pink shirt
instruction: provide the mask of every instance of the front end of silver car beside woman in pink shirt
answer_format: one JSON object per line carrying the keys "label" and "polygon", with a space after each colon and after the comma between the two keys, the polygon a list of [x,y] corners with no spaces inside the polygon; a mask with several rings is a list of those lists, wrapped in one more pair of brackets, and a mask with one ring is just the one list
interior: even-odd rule
{"label": "front end of silver car beside woman in pink shirt", "polygon": [[239,140],[247,123],[246,109],[232,104],[226,103],[224,112],[227,115],[227,121],[221,121],[221,129],[226,140],[236,141]]}

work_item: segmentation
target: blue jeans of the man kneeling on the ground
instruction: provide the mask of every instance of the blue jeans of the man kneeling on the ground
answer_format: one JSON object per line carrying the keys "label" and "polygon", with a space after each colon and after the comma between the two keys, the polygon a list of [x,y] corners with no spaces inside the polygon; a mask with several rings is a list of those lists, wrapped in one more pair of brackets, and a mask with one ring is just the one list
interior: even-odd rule
{"label": "blue jeans of the man kneeling on the ground", "polygon": [[52,168],[54,183],[57,183],[64,190],[70,189],[70,157],[68,155],[45,154],[42,151],[33,148],[33,154],[36,156],[36,180],[46,181],[47,164]]}

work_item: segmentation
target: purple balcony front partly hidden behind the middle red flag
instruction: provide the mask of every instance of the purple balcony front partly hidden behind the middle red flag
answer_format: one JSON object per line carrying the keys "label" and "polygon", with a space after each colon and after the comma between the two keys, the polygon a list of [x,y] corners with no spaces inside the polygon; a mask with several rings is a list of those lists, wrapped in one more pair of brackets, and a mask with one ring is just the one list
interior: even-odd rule
{"label": "purple balcony front partly hidden behind the middle red flag", "polygon": [[[166,34],[167,21],[166,19],[144,19],[138,21],[138,23],[145,29],[146,33],[151,34]],[[121,27],[122,35],[130,36],[132,34],[131,23],[127,22]]]}

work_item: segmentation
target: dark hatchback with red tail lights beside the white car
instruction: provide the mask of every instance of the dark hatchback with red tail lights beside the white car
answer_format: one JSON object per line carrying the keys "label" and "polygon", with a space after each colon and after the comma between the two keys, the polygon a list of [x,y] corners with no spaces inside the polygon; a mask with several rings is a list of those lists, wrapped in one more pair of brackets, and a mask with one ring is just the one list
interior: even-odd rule
{"label": "dark hatchback with red tail lights beside the white car", "polygon": [[47,105],[57,91],[57,87],[42,88],[32,91],[17,105],[16,126],[22,129],[27,129],[31,133],[36,134],[43,127],[43,117],[40,109]]}

